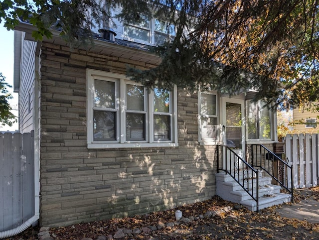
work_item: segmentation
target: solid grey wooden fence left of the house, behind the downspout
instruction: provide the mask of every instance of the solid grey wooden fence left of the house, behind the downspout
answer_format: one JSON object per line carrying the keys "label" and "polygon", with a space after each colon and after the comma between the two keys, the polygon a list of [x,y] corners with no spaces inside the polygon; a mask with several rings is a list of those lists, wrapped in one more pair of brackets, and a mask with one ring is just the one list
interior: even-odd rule
{"label": "solid grey wooden fence left of the house, behind the downspout", "polygon": [[33,139],[33,132],[0,132],[0,232],[34,214]]}

